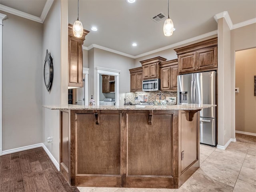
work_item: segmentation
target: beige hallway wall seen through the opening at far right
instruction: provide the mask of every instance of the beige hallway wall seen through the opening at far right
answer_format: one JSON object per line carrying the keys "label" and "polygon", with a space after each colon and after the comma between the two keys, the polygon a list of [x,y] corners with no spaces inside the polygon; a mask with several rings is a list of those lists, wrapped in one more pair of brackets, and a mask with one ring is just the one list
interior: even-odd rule
{"label": "beige hallway wall seen through the opening at far right", "polygon": [[256,136],[256,48],[235,52],[235,132]]}

